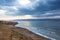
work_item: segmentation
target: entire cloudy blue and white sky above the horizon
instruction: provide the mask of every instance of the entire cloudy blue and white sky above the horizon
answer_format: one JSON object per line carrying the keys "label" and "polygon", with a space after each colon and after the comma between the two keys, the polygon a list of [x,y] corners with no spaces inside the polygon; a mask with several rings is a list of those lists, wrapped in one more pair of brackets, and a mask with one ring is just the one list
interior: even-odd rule
{"label": "entire cloudy blue and white sky above the horizon", "polygon": [[60,18],[60,0],[0,0],[0,20]]}

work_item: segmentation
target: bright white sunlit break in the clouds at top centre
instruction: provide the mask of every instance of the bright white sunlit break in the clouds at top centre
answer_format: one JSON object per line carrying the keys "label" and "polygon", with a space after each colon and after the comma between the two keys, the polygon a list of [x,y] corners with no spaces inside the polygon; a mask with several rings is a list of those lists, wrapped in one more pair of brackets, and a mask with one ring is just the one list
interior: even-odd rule
{"label": "bright white sunlit break in the clouds at top centre", "polygon": [[21,8],[26,8],[26,9],[35,9],[35,7],[37,7],[39,5],[39,2],[41,2],[40,0],[17,0],[19,7]]}

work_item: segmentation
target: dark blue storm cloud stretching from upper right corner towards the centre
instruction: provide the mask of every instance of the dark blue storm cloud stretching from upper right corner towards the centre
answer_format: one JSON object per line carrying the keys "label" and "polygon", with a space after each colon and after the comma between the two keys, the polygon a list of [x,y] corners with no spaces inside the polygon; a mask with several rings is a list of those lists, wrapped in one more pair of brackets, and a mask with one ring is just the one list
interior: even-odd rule
{"label": "dark blue storm cloud stretching from upper right corner towards the centre", "polygon": [[34,10],[22,9],[22,10],[19,10],[19,12],[21,11],[21,13],[18,13],[18,14],[39,15],[39,14],[43,14],[45,11],[52,11],[52,10],[58,10],[58,9],[60,9],[60,0],[45,0],[45,3],[40,2],[39,6],[37,6]]}

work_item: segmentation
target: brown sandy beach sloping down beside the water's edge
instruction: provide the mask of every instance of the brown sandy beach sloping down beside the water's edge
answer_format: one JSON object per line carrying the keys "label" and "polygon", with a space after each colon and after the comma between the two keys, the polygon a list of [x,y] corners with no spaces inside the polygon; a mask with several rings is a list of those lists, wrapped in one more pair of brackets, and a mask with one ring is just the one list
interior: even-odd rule
{"label": "brown sandy beach sloping down beside the water's edge", "polygon": [[50,40],[27,29],[0,24],[0,40]]}

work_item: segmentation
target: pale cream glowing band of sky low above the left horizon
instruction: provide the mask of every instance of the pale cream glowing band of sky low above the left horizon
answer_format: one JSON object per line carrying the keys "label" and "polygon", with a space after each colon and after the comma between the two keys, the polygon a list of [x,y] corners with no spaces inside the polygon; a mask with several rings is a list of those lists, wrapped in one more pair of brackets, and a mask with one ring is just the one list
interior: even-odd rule
{"label": "pale cream glowing band of sky low above the left horizon", "polygon": [[23,16],[4,16],[0,17],[0,20],[15,20],[15,19],[32,19],[31,15],[23,15]]}

